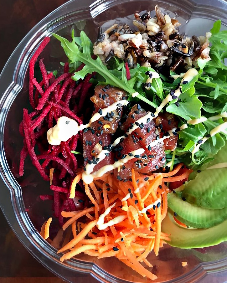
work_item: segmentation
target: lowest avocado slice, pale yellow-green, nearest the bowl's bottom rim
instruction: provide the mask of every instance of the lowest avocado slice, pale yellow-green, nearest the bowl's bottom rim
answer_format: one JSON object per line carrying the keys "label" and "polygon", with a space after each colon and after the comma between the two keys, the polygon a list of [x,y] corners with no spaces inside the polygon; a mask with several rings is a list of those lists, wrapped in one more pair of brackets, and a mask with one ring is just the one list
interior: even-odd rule
{"label": "lowest avocado slice, pale yellow-green, nearest the bowl's bottom rim", "polygon": [[162,221],[162,232],[170,234],[173,247],[181,249],[205,248],[227,241],[227,220],[209,229],[185,229],[174,224],[167,215]]}

